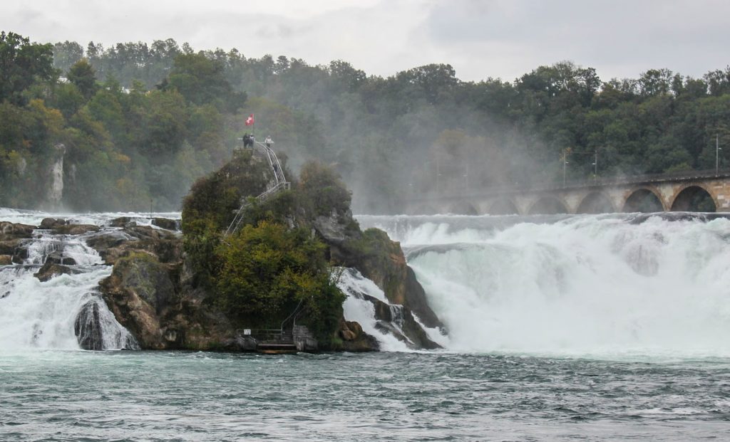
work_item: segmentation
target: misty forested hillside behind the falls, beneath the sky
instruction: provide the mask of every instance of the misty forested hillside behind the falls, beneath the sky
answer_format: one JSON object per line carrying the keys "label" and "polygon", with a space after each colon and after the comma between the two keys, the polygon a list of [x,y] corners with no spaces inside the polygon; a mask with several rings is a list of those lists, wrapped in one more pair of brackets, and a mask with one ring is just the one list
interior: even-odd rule
{"label": "misty forested hillside behind the falls, beneath the sky", "polygon": [[0,66],[2,206],[44,203],[62,144],[66,208],[178,209],[250,113],[293,168],[334,165],[356,212],[398,212],[410,193],[557,182],[563,155],[568,179],[714,168],[715,140],[730,142],[730,66],[602,80],[560,62],[463,82],[448,64],[384,78],[172,39],[105,48],[12,33],[0,34]]}

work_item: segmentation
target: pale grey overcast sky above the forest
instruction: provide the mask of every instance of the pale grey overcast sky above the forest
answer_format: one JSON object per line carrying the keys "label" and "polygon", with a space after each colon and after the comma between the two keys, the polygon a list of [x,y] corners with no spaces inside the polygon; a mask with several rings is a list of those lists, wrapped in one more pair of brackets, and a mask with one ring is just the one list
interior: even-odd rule
{"label": "pale grey overcast sky above the forest", "polygon": [[514,80],[569,60],[602,80],[730,63],[727,0],[3,0],[0,30],[35,42],[173,38],[247,57],[349,61],[388,76],[450,63],[461,80]]}

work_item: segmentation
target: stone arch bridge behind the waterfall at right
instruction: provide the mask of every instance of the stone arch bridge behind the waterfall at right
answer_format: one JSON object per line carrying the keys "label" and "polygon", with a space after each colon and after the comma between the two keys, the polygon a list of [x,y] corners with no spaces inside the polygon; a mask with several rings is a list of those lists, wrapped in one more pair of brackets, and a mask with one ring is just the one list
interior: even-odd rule
{"label": "stone arch bridge behind the waterfall at right", "polygon": [[491,188],[404,198],[407,214],[730,212],[730,170],[645,175],[537,189]]}

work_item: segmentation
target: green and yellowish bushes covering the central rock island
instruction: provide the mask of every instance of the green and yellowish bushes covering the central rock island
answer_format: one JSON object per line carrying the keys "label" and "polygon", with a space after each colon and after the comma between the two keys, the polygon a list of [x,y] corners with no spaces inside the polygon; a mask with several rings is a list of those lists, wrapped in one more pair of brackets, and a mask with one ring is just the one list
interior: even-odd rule
{"label": "green and yellowish bushes covering the central rock island", "polygon": [[[285,167],[285,166],[284,166]],[[195,182],[183,204],[183,233],[196,284],[241,326],[278,328],[294,311],[297,323],[321,343],[334,336],[345,296],[337,289],[327,247],[312,232],[320,216],[346,219],[350,193],[328,166],[307,163],[300,179],[286,171],[291,190],[261,202],[272,171],[246,150]],[[241,228],[223,238],[233,213],[247,198]]]}

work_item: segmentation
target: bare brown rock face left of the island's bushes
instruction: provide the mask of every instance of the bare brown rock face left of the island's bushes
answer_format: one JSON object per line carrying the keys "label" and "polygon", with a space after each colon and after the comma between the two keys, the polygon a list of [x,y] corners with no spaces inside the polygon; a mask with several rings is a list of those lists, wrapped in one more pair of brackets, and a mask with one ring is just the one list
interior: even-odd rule
{"label": "bare brown rock face left of the island's bushes", "polygon": [[100,284],[102,297],[142,349],[239,349],[228,319],[205,305],[206,292],[191,286],[180,234],[116,224],[125,227],[87,242],[114,265]]}

